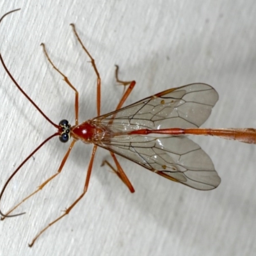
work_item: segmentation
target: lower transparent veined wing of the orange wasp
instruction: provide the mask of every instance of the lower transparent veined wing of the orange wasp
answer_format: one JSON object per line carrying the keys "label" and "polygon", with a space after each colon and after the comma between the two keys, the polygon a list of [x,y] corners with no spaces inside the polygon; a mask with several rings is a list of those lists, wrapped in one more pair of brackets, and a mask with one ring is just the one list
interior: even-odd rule
{"label": "lower transparent veined wing of the orange wasp", "polygon": [[186,136],[116,136],[97,145],[191,188],[210,190],[221,181],[210,157]]}

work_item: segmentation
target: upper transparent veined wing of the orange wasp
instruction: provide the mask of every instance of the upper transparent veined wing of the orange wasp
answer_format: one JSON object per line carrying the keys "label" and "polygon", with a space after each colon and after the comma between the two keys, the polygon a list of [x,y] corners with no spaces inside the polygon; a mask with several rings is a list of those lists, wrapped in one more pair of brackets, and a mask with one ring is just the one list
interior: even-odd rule
{"label": "upper transparent veined wing of the orange wasp", "polygon": [[218,93],[208,84],[188,84],[99,116],[93,122],[123,131],[199,127],[207,120],[217,100]]}

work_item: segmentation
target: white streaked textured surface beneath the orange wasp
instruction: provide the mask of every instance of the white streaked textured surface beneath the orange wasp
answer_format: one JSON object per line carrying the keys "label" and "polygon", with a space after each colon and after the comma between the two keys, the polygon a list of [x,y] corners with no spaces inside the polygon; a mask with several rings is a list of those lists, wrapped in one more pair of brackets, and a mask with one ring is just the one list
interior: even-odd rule
{"label": "white streaked textured surface beneath the orange wasp", "polygon": [[[122,79],[136,79],[127,104],[168,88],[203,82],[220,100],[204,127],[256,127],[255,0],[8,1],[0,48],[22,88],[54,122],[74,124],[74,93],[45,60],[40,43],[80,92],[80,121],[96,115],[95,74],[68,24],[97,61],[102,113],[113,110]],[[55,132],[0,68],[0,185],[44,138]],[[63,173],[17,209],[27,214],[0,223],[0,255],[255,255],[256,147],[196,138],[222,179],[196,191],[120,159],[136,193],[129,193],[99,150],[88,194],[28,243],[81,193],[91,145],[77,143]],[[68,145],[55,138],[30,159],[6,190],[6,212],[56,172]]]}

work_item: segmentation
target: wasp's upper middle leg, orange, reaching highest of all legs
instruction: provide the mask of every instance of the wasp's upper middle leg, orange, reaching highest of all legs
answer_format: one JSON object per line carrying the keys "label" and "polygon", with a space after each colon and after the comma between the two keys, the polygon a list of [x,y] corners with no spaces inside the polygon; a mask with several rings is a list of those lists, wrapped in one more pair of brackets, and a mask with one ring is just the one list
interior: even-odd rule
{"label": "wasp's upper middle leg, orange, reaching highest of all legs", "polygon": [[70,24],[70,26],[72,26],[73,31],[74,31],[74,33],[76,35],[76,38],[77,38],[79,44],[81,44],[83,50],[86,52],[86,54],[91,59],[92,67],[93,67],[93,69],[94,69],[94,71],[96,73],[96,76],[97,76],[97,115],[100,116],[100,86],[101,86],[100,74],[99,74],[99,71],[98,71],[98,69],[96,67],[95,60],[92,58],[92,55],[90,54],[90,52],[88,52],[88,50],[84,46],[83,42],[79,38],[79,35],[77,34],[75,25],[74,24]]}

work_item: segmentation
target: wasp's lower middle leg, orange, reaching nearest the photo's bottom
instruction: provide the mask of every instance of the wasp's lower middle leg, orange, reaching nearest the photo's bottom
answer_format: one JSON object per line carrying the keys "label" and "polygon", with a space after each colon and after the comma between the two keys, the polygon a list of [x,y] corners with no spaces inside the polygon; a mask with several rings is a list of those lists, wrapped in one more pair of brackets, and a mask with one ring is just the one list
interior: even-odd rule
{"label": "wasp's lower middle leg, orange, reaching nearest the photo's bottom", "polygon": [[68,207],[65,212],[63,214],[61,214],[60,217],[56,218],[56,220],[52,221],[51,223],[49,223],[45,228],[43,228],[36,236],[35,238],[32,240],[31,244],[29,244],[29,246],[33,246],[33,244],[35,243],[36,239],[38,239],[39,236],[41,236],[45,230],[47,230],[49,227],[51,227],[54,223],[56,223],[57,221],[61,220],[61,218],[63,218],[64,216],[66,216],[71,210],[72,208],[81,200],[81,198],[83,198],[83,196],[85,195],[88,186],[89,186],[89,182],[90,182],[90,176],[92,173],[92,165],[93,165],[93,160],[94,160],[94,156],[97,150],[97,146],[94,145],[93,147],[93,151],[92,151],[92,156],[90,159],[90,164],[88,166],[88,171],[86,174],[86,180],[85,180],[85,184],[84,184],[84,189],[83,189],[83,193],[76,199],[76,201],[74,201],[74,203],[72,205],[70,205],[70,207]]}

